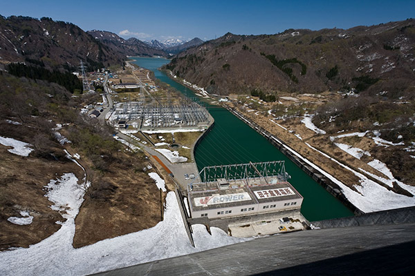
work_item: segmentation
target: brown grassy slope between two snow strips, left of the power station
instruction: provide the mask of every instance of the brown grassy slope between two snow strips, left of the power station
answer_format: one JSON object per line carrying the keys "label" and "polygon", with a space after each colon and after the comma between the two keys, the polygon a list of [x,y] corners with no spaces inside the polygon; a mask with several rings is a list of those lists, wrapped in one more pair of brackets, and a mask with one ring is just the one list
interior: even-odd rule
{"label": "brown grassy slope between two snow strips, left of the power station", "polygon": [[162,220],[165,193],[143,168],[150,162],[141,153],[122,152],[120,163],[106,172],[92,172],[93,181],[75,219],[73,246],[94,244],[155,226]]}

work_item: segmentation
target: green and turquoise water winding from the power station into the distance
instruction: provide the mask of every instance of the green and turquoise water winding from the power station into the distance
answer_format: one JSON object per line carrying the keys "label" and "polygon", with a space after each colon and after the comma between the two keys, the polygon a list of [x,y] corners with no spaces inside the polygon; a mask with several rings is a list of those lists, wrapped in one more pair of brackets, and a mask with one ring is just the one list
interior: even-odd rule
{"label": "green and turquoise water winding from the power station into the distance", "polygon": [[[192,90],[157,70],[160,66],[169,63],[168,59],[144,57],[133,57],[133,59],[136,65],[153,71],[160,81],[176,88],[187,97],[197,97]],[[194,152],[199,171],[205,166],[284,160],[286,172],[291,176],[288,181],[304,197],[301,213],[308,221],[353,215],[351,210],[243,121],[225,108],[211,106],[208,103],[205,106],[215,123]]]}

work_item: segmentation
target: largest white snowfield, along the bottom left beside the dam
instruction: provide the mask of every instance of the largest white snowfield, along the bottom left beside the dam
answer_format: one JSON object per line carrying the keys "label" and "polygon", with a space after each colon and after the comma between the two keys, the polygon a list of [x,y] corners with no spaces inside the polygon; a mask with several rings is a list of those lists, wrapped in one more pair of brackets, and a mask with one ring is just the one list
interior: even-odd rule
{"label": "largest white snowfield, along the bottom left beside the dam", "polygon": [[[82,203],[80,200],[79,203]],[[80,204],[77,204],[80,205]],[[73,206],[76,208],[76,206]],[[112,239],[73,248],[75,217],[64,222],[50,237],[29,248],[0,252],[2,275],[90,275],[125,266],[166,259],[250,239],[229,237],[219,228],[196,224],[192,247],[183,226],[174,192],[166,197],[164,220],[156,226]],[[19,262],[16,262],[19,260]]]}

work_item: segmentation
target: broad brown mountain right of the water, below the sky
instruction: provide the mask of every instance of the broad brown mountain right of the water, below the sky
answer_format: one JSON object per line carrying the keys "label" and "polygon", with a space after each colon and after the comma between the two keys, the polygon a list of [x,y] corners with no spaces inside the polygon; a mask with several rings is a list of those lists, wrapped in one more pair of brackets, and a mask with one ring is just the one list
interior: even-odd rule
{"label": "broad brown mountain right of the water, below the sky", "polygon": [[348,30],[286,30],[237,35],[181,52],[166,67],[215,94],[387,91],[399,97],[415,85],[415,21]]}

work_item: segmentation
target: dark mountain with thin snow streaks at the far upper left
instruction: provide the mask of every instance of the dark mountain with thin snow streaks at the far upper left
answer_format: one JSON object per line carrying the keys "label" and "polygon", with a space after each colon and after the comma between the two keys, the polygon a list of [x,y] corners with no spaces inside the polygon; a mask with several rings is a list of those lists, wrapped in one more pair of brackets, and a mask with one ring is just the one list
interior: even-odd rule
{"label": "dark mountain with thin snow streaks at the far upper left", "polygon": [[0,62],[42,63],[47,68],[92,67],[122,63],[125,56],[93,39],[73,23],[48,17],[0,16]]}

